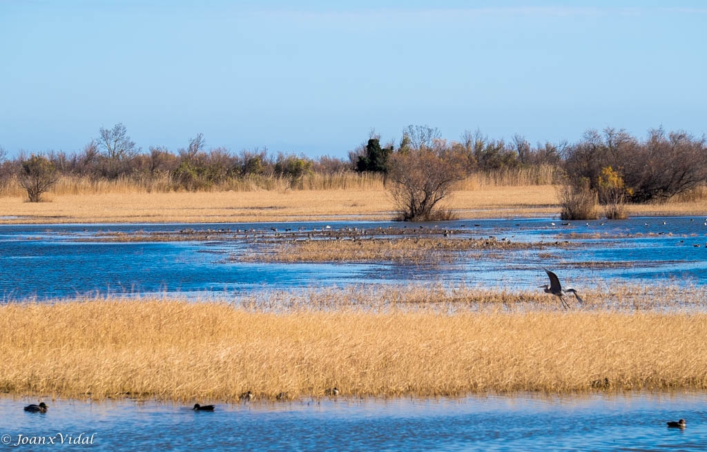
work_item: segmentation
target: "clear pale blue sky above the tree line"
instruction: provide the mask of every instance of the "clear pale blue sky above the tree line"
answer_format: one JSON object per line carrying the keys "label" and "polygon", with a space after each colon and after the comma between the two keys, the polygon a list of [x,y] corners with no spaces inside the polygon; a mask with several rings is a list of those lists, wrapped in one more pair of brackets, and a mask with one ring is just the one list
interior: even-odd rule
{"label": "clear pale blue sky above the tree line", "polygon": [[[568,6],[569,4],[569,6]],[[0,147],[346,157],[372,129],[707,132],[703,1],[0,0]]]}

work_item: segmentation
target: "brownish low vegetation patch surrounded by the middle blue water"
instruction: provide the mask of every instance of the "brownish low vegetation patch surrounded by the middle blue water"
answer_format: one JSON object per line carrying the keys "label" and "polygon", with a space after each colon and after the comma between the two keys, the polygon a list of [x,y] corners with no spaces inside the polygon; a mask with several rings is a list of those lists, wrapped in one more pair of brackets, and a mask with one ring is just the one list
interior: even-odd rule
{"label": "brownish low vegetation patch surrounded by the middle blue water", "polygon": [[[474,235],[476,237],[474,237]],[[508,237],[479,237],[469,230],[438,227],[327,227],[313,230],[180,230],[179,232],[102,232],[77,241],[96,242],[242,242],[250,251],[229,261],[434,263],[460,258],[503,258],[493,251],[543,250],[578,246],[569,240],[516,242]],[[463,254],[462,254],[463,253]]]}

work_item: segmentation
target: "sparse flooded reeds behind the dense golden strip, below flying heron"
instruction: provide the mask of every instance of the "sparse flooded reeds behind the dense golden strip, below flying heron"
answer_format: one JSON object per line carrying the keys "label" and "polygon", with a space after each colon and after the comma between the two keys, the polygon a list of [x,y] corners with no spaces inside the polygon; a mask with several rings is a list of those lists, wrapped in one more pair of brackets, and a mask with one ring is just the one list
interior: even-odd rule
{"label": "sparse flooded reeds behind the dense golden strip, below flying heron", "polygon": [[[546,284],[544,272],[538,274],[537,284]],[[634,285],[595,281],[591,288],[575,281],[584,302],[568,302],[582,311],[655,311],[672,312],[675,309],[702,311],[707,307],[707,287],[691,285]],[[579,286],[576,284],[580,283]],[[397,309],[416,311],[428,309],[440,313],[504,311],[554,311],[559,300],[542,289],[510,290],[504,287],[443,285],[371,285],[356,284],[343,287],[312,287],[307,290],[259,290],[234,297],[234,307],[250,311],[337,311],[363,309],[387,311]]]}

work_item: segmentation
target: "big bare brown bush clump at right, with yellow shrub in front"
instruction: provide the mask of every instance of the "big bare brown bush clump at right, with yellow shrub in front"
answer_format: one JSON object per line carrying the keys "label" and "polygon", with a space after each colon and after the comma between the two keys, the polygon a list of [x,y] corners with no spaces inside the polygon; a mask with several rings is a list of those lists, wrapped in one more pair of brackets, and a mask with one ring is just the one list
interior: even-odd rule
{"label": "big bare brown bush clump at right, with yellow shrub in front", "polygon": [[625,218],[626,202],[665,201],[707,185],[706,143],[705,136],[662,128],[643,140],[622,129],[587,131],[563,155],[561,216],[595,218],[594,198],[607,218]]}

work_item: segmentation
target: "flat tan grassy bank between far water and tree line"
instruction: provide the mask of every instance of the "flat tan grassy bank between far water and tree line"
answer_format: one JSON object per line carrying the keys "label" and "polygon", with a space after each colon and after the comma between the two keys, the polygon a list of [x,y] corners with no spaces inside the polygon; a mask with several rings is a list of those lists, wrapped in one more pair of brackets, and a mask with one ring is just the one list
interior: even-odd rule
{"label": "flat tan grassy bank between far water and tree line", "polygon": [[[354,189],[49,194],[48,202],[0,197],[0,223],[57,222],[252,222],[390,220],[388,192]],[[459,218],[559,215],[552,185],[479,186],[455,191],[445,201]],[[629,206],[629,215],[707,215],[703,198]]]}

